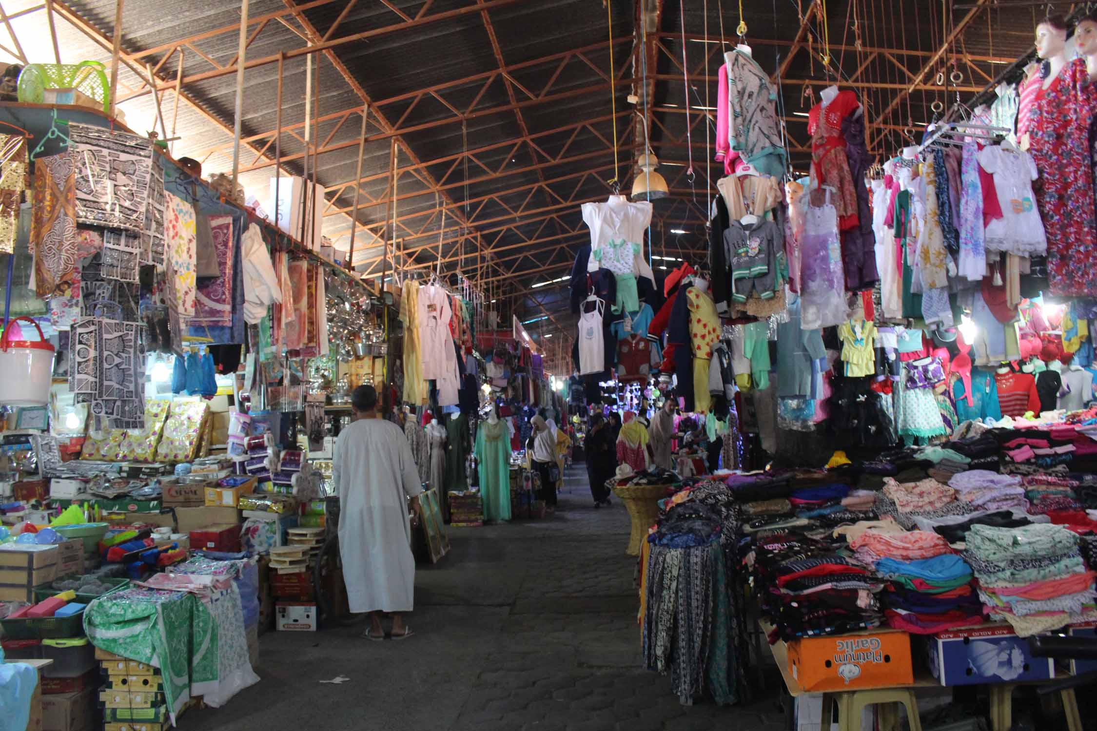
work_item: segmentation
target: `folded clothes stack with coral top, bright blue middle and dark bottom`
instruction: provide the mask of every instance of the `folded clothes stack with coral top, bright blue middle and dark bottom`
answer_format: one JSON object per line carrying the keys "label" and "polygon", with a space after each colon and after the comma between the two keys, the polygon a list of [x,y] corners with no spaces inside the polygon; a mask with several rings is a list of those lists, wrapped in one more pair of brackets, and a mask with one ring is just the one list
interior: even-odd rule
{"label": "folded clothes stack with coral top, bright blue middle and dark bottom", "polygon": [[983,623],[971,568],[942,536],[890,522],[845,534],[858,560],[887,579],[881,604],[891,627],[932,635]]}

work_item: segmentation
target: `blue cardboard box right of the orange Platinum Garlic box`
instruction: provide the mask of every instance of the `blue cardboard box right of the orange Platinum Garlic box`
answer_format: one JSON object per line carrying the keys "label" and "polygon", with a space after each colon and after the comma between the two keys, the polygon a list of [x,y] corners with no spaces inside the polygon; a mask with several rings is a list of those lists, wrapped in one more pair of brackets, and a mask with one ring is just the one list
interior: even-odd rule
{"label": "blue cardboard box right of the orange Platinum Garlic box", "polygon": [[1047,681],[1055,661],[1033,658],[1028,640],[1009,625],[970,627],[926,637],[929,671],[941,685],[983,685]]}

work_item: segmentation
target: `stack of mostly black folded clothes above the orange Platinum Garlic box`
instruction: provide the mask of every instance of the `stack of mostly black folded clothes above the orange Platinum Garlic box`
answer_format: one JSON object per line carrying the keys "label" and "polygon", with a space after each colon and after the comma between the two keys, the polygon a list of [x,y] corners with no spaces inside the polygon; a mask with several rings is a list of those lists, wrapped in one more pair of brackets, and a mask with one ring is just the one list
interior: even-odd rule
{"label": "stack of mostly black folded clothes above the orange Platinum Garlic box", "polygon": [[875,573],[830,541],[794,533],[755,539],[754,576],[770,642],[879,627]]}

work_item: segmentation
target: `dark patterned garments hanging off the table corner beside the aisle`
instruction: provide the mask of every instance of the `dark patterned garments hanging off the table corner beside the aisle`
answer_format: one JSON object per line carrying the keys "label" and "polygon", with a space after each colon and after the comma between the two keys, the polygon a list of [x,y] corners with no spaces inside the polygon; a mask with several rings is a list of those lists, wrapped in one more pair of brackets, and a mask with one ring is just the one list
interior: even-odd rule
{"label": "dark patterned garments hanging off the table corner beside the aisle", "polygon": [[644,545],[644,665],[669,674],[678,699],[720,705],[749,695],[749,633],[736,581],[742,515],[723,482],[691,480],[663,501]]}

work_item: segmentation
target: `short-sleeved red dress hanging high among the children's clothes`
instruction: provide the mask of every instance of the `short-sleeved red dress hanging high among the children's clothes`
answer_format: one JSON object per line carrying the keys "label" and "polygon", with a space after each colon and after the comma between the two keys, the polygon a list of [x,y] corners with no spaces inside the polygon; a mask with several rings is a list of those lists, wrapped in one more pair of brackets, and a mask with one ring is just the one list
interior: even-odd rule
{"label": "short-sleeved red dress hanging high among the children's clothes", "polygon": [[[819,102],[807,114],[807,132],[812,136],[812,180],[837,191],[838,228],[847,231],[857,226],[857,187],[849,172],[846,138],[841,123],[858,106],[857,94],[840,91],[824,110]],[[863,184],[863,182],[861,183]]]}

